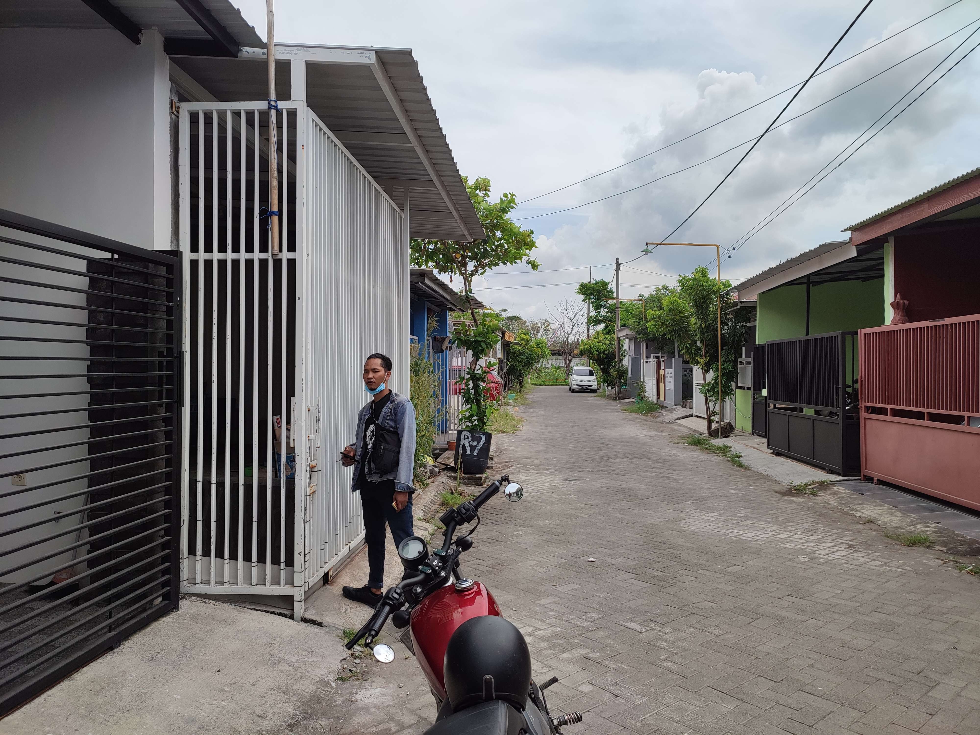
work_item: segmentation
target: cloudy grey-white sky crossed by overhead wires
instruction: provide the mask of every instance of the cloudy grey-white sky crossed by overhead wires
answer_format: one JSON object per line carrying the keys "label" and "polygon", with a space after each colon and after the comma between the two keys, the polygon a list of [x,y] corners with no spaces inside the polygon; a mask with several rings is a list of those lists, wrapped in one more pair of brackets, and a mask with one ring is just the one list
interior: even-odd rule
{"label": "cloudy grey-white sky crossed by overhead wires", "polygon": [[[671,241],[731,246],[821,168],[838,163],[843,156],[834,157],[890,107],[898,103],[868,134],[902,110],[980,43],[977,0],[960,0],[899,33],[953,2],[874,0],[823,69],[868,50],[814,77],[779,122],[806,114],[765,135]],[[265,0],[235,4],[265,37]],[[514,192],[522,204],[512,217],[537,239],[537,273],[526,267],[491,271],[477,279],[476,296],[540,319],[577,298],[575,285],[588,280],[589,266],[593,277],[610,279],[616,257],[641,256],[645,242],[662,240],[680,224],[749,145],[717,155],[758,136],[793,92],[646,154],[806,79],[862,5],[278,0],[275,36],[413,50],[460,172],[489,177],[495,195]],[[726,253],[722,278],[738,283],[822,242],[847,239],[841,231],[847,225],[980,166],[980,86],[970,83],[978,70],[980,49],[799,203]],[[672,175],[647,184],[664,174]],[[617,195],[641,184],[647,185]],[[526,201],[534,197],[540,198]],[[551,214],[570,208],[576,209]],[[708,248],[658,248],[623,267],[621,295],[673,283],[678,273],[712,261]]]}

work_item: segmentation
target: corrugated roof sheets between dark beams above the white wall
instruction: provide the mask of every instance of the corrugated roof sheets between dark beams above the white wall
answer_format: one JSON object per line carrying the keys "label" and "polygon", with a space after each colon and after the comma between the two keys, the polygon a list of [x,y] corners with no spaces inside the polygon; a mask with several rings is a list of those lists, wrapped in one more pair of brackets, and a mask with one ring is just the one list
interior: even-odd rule
{"label": "corrugated roof sheets between dark beams above the white wall", "polygon": [[[201,0],[201,4],[242,46],[261,46],[264,41],[242,18],[229,0]],[[112,0],[123,15],[145,29],[157,28],[164,38],[211,36],[187,15],[175,0]],[[4,0],[0,3],[0,27],[112,28],[81,0]]]}

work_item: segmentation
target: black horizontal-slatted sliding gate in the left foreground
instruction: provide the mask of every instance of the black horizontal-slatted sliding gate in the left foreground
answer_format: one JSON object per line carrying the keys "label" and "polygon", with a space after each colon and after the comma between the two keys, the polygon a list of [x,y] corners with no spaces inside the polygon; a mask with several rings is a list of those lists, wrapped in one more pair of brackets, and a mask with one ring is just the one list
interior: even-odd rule
{"label": "black horizontal-slatted sliding gate in the left foreground", "polygon": [[0,210],[0,715],[177,607],[180,277]]}

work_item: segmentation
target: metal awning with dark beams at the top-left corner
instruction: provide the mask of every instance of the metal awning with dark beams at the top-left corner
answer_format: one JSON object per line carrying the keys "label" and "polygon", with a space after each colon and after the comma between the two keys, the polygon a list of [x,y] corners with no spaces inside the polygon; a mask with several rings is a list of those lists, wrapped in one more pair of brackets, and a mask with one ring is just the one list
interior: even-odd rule
{"label": "metal awning with dark beams at the top-left corner", "polygon": [[133,43],[155,28],[169,54],[233,57],[263,44],[229,0],[6,0],[0,27],[116,28]]}

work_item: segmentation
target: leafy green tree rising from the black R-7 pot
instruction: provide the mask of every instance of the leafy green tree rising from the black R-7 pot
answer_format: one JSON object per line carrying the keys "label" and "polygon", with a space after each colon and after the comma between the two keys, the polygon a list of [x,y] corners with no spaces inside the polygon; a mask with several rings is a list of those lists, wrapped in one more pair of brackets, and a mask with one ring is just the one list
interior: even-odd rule
{"label": "leafy green tree rising from the black R-7 pot", "polygon": [[538,270],[538,262],[531,258],[531,252],[537,247],[537,243],[532,230],[523,229],[511,221],[511,212],[517,206],[517,198],[513,193],[505,193],[498,201],[492,202],[489,178],[480,176],[470,183],[464,176],[463,181],[483,227],[484,238],[468,243],[413,240],[412,263],[418,268],[432,268],[450,273],[450,277],[459,275],[463,280],[463,298],[472,322],[464,322],[453,335],[453,342],[471,356],[469,365],[460,378],[465,404],[460,417],[464,428],[485,431],[489,408],[486,406],[483,386],[487,370],[492,366],[480,366],[480,361],[500,341],[501,317],[489,311],[477,314],[472,302],[473,278],[500,266],[525,264],[531,270]]}

